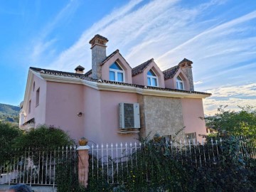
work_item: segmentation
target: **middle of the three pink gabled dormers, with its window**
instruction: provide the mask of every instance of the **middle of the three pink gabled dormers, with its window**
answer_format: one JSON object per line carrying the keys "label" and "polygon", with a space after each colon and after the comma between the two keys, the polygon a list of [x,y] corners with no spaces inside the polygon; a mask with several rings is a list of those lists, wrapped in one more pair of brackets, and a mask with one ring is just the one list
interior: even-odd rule
{"label": "middle of the three pink gabled dormers, with its window", "polygon": [[164,87],[164,74],[151,58],[132,69],[132,83],[151,87]]}

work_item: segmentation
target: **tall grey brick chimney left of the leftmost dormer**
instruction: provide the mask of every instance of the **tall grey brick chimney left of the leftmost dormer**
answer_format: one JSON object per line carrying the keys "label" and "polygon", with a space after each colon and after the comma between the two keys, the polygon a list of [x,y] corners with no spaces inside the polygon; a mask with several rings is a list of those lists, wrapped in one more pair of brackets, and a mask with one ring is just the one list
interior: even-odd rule
{"label": "tall grey brick chimney left of the leftmost dormer", "polygon": [[99,34],[95,35],[91,40],[90,44],[92,45],[92,78],[101,79],[101,63],[106,55],[106,43],[108,42],[107,38],[100,36]]}

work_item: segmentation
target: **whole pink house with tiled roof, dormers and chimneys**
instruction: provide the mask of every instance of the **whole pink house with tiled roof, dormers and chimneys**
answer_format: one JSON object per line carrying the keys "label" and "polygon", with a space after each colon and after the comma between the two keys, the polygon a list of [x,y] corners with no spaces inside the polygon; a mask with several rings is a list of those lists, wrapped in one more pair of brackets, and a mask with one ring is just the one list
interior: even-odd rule
{"label": "whole pink house with tiled roof, dormers and chimneys", "polygon": [[134,142],[138,133],[166,139],[206,134],[202,99],[206,92],[193,89],[192,62],[161,71],[154,59],[131,68],[115,50],[106,55],[107,38],[90,40],[92,70],[75,73],[30,68],[23,102],[21,129],[38,124],[60,127],[78,141]]}

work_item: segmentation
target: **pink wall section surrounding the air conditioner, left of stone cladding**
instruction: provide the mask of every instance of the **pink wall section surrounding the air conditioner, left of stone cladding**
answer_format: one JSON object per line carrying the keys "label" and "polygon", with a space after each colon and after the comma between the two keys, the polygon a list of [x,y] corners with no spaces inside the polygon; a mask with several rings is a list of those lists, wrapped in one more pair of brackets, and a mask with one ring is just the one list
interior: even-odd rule
{"label": "pink wall section surrounding the air conditioner, left of stone cladding", "polygon": [[137,102],[137,94],[84,88],[85,137],[90,142],[125,143],[137,141],[137,134],[119,134],[119,103]]}

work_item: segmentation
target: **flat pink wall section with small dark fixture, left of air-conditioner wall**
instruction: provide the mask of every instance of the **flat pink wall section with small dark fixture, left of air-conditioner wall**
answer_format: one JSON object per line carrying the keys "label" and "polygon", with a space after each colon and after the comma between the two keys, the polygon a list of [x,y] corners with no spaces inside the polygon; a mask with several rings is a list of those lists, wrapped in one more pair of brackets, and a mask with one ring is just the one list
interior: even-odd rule
{"label": "flat pink wall section with small dark fixture, left of air-conditioner wall", "polygon": [[[83,85],[47,82],[46,124],[60,127],[78,141],[85,118]],[[82,112],[82,117],[78,117]]]}

